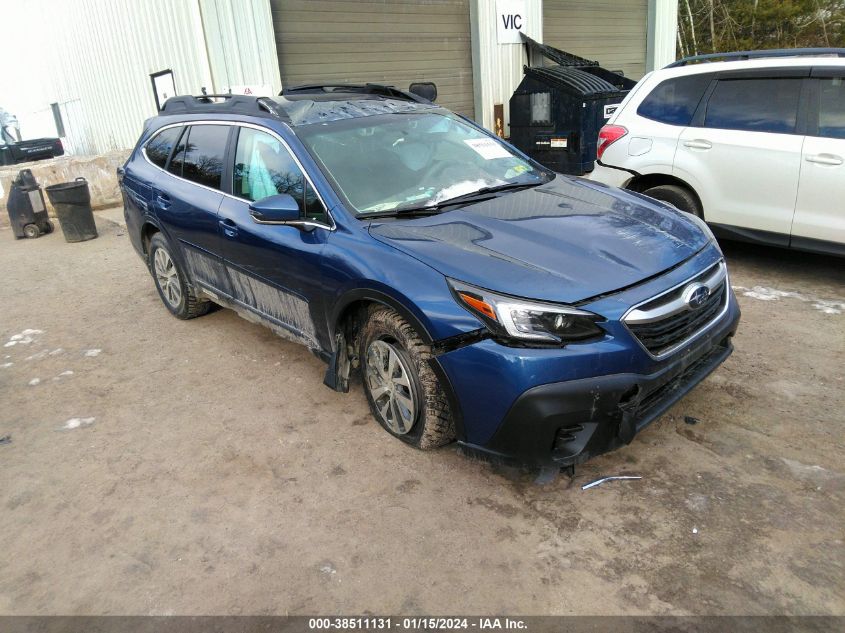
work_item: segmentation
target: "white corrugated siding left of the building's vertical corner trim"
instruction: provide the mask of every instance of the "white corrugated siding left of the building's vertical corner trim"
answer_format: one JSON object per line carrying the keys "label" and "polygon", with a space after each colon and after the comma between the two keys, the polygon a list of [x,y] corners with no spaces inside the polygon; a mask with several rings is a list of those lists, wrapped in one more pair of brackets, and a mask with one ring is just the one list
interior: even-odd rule
{"label": "white corrugated siding left of the building's vertical corner trim", "polygon": [[155,114],[150,73],[170,68],[182,93],[211,87],[196,1],[108,0],[29,2],[50,46],[40,53],[52,100],[78,100],[81,150],[100,153],[134,145]]}

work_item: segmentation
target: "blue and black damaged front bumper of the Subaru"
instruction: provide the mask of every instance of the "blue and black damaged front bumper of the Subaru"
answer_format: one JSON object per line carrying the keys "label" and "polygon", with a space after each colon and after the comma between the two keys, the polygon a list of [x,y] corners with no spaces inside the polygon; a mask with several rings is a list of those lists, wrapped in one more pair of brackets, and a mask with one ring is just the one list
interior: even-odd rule
{"label": "blue and black damaged front bumper of the Subaru", "polygon": [[[483,341],[440,356],[460,406],[459,443],[491,461],[540,468],[580,464],[628,444],[731,354],[740,314],[730,294],[706,334],[661,362],[645,358],[623,332],[556,355]],[[550,380],[556,374],[572,378]]]}

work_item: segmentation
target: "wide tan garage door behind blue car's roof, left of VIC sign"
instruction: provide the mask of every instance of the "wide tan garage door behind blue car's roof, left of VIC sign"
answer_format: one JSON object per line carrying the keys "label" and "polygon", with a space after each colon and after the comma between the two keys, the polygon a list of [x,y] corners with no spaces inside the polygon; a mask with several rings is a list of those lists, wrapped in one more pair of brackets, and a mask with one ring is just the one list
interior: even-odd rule
{"label": "wide tan garage door behind blue car's roof, left of VIC sign", "polygon": [[271,0],[282,85],[437,84],[437,102],[473,116],[468,0]]}

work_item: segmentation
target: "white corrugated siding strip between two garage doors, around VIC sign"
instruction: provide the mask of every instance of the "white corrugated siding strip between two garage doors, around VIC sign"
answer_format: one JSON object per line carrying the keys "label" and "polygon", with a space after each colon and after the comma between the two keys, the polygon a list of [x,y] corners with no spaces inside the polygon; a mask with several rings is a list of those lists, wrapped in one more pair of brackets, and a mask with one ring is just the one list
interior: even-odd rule
{"label": "white corrugated siding strip between two garage doors, around VIC sign", "polygon": [[[543,8],[541,0],[526,0],[524,33],[542,41]],[[501,103],[505,114],[505,136],[510,135],[510,98],[523,77],[528,53],[522,44],[499,44],[496,34],[496,0],[476,0],[473,9],[474,68],[482,78],[475,85],[475,102],[481,112],[475,120],[494,130],[493,106]]]}

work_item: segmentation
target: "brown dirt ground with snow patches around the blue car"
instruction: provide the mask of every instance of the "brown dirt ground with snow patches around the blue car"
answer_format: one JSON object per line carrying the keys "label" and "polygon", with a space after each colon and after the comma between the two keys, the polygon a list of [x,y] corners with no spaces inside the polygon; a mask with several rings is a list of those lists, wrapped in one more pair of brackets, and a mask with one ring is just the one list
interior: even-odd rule
{"label": "brown dirt ground with snow patches around the blue car", "polygon": [[107,216],[0,230],[0,614],[845,614],[843,260],[726,244],[734,355],[538,487],[407,448],[230,311],[172,318]]}

